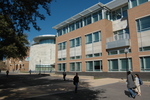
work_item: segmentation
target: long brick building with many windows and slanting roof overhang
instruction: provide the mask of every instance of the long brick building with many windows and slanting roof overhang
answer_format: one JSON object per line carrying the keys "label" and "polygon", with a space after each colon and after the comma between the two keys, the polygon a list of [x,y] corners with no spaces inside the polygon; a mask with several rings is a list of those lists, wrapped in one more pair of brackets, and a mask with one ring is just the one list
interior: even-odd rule
{"label": "long brick building with many windows and slanting roof overhang", "polygon": [[150,0],[97,3],[53,28],[58,73],[150,72]]}

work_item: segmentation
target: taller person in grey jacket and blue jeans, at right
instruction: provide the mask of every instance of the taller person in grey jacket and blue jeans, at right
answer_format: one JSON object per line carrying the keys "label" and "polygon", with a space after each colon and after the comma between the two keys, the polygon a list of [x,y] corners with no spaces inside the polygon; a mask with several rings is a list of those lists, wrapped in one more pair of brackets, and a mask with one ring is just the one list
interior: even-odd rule
{"label": "taller person in grey jacket and blue jeans, at right", "polygon": [[130,92],[129,97],[133,97],[135,99],[136,93],[133,91],[133,89],[135,89],[136,86],[134,83],[134,77],[130,71],[127,72],[127,88],[128,88],[128,91]]}

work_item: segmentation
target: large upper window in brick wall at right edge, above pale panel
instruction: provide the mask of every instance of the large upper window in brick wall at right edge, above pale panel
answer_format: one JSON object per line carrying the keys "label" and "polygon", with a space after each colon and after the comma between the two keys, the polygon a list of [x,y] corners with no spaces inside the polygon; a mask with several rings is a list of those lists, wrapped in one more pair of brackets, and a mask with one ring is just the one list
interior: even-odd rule
{"label": "large upper window in brick wall at right edge, above pale panel", "polygon": [[138,32],[150,30],[150,16],[138,19],[136,23]]}

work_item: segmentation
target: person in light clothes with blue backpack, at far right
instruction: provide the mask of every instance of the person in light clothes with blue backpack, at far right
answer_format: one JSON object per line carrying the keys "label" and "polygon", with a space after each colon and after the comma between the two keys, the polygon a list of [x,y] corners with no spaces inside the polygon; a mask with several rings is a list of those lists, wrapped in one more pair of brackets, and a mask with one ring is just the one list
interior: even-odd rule
{"label": "person in light clothes with blue backpack, at far right", "polygon": [[139,96],[141,96],[141,83],[140,83],[140,77],[138,74],[135,74],[135,85],[136,85],[136,89],[135,91],[138,93]]}

